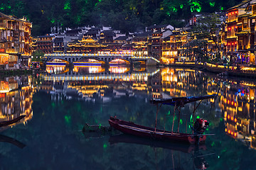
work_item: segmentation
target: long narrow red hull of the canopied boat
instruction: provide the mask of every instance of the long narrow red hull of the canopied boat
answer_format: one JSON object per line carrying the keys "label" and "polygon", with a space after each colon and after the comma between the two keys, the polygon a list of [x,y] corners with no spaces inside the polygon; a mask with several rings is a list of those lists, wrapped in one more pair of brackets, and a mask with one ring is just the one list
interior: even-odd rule
{"label": "long narrow red hull of the canopied boat", "polygon": [[206,135],[192,135],[187,133],[178,133],[178,132],[169,132],[169,131],[164,132],[164,130],[158,130],[158,129],[156,129],[156,132],[155,132],[154,128],[137,125],[132,122],[119,120],[113,117],[110,117],[110,120],[108,121],[112,128],[115,128],[129,135],[147,137],[154,140],[168,140],[172,142],[186,142],[191,144],[195,144],[196,142],[204,143],[206,141]]}

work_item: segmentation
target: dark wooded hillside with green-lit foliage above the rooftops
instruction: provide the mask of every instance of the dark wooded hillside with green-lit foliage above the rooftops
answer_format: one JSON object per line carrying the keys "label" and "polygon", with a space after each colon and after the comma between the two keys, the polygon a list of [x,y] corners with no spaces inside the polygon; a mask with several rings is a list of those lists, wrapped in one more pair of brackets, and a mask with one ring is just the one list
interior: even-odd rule
{"label": "dark wooded hillside with green-lit foliage above the rooftops", "polygon": [[[212,13],[235,6],[240,0],[9,0],[0,2],[0,12],[32,23],[32,35],[49,33],[51,26],[74,28],[112,26],[123,32],[153,24],[184,26],[191,13]],[[178,21],[177,21],[178,18]]]}

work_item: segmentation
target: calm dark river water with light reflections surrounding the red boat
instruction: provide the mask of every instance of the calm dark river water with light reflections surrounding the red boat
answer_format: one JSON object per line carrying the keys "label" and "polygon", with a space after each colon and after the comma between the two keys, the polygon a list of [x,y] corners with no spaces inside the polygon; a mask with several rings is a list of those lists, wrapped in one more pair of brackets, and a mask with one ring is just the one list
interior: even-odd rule
{"label": "calm dark river water with light reflections surrounding the red boat", "polygon": [[[255,86],[156,67],[48,66],[43,74],[1,78],[0,120],[27,116],[0,129],[0,169],[256,169]],[[110,116],[153,128],[151,98],[210,94],[218,96],[203,101],[196,117],[208,120],[206,133],[215,135],[199,147],[82,132],[85,123],[107,127]],[[181,131],[191,132],[192,112],[193,104],[181,108]],[[166,120],[171,130],[173,113],[161,106],[158,128]]]}

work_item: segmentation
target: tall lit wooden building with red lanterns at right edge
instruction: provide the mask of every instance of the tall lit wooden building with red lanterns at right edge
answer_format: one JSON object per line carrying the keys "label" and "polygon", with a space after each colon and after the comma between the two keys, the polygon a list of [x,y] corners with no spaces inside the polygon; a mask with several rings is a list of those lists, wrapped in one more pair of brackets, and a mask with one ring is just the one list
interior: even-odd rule
{"label": "tall lit wooden building with red lanterns at right edge", "polygon": [[230,55],[230,60],[255,64],[255,13],[256,3],[252,0],[228,9],[225,31],[226,55]]}

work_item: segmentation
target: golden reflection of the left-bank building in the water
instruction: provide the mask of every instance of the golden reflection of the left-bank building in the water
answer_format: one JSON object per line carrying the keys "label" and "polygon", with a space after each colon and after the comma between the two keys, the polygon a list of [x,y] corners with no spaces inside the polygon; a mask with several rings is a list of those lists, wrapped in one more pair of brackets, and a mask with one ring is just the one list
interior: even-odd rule
{"label": "golden reflection of the left-bank building in the water", "polygon": [[[23,77],[24,78],[24,77]],[[1,81],[0,84],[0,120],[12,120],[20,115],[26,115],[21,120],[26,122],[33,116],[31,104],[32,101],[32,87],[30,85],[31,77],[25,77],[14,79],[9,78],[5,81]],[[20,86],[20,82],[27,84],[26,86]]]}

